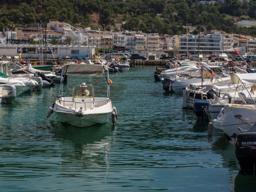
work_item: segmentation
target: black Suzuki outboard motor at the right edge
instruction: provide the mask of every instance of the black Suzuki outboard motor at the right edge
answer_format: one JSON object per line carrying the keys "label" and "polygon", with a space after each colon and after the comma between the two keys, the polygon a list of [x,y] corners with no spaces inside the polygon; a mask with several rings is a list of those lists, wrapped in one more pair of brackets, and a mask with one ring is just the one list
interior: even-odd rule
{"label": "black Suzuki outboard motor at the right edge", "polygon": [[236,138],[235,154],[241,171],[256,172],[256,132],[233,134]]}

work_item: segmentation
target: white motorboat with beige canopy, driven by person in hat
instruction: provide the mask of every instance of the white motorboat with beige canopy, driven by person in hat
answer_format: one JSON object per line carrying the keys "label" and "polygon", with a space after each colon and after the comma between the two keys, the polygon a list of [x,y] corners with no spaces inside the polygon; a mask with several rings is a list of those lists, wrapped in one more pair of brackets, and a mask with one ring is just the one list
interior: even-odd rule
{"label": "white motorboat with beige canopy, driven by person in hat", "polygon": [[[99,64],[65,64],[63,67],[63,75],[79,75],[79,76],[102,76],[107,73],[108,67]],[[87,127],[97,123],[105,123],[109,119],[109,115],[116,116],[113,113],[113,106],[109,95],[109,81],[108,82],[108,96],[95,97],[93,85],[79,84],[73,88],[73,95],[66,97],[60,96],[62,82],[60,85],[59,98],[56,99],[53,106],[49,108],[47,117],[55,112],[61,122],[67,122],[70,125],[77,127]],[[79,94],[82,86],[86,86],[89,90],[88,94]],[[115,108],[114,108],[115,109]]]}

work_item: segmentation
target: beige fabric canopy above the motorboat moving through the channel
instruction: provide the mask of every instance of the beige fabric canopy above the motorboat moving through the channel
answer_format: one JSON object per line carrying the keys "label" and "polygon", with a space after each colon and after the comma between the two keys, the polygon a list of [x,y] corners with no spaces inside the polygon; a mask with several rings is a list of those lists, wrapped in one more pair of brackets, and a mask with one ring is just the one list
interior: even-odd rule
{"label": "beige fabric canopy above the motorboat moving through the channel", "polygon": [[99,64],[65,64],[63,75],[102,76],[108,72],[108,67]]}

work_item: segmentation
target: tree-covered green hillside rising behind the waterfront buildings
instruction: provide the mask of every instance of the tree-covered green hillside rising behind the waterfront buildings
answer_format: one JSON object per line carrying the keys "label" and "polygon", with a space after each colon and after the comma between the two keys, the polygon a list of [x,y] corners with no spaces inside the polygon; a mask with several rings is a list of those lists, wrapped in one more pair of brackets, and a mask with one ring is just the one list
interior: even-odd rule
{"label": "tree-covered green hillside rising behind the waterfront buildings", "polygon": [[[198,0],[0,0],[0,30],[9,23],[48,23],[58,20],[73,26],[184,34],[186,26],[256,36],[256,26],[239,27],[239,20],[255,20],[256,1],[225,0],[202,4]],[[196,31],[194,32],[196,33]]]}

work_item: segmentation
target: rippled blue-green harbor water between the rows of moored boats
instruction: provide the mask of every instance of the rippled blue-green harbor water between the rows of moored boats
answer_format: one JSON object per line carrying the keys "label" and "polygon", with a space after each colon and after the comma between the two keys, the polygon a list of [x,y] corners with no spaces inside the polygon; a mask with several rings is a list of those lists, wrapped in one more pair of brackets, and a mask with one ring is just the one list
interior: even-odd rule
{"label": "rippled blue-green harbor water between the rows of moored boats", "polygon": [[[255,191],[224,133],[208,136],[208,123],[182,109],[182,95],[165,93],[154,70],[110,74],[115,125],[111,116],[88,128],[47,119],[59,84],[1,104],[1,191]],[[105,76],[69,76],[63,94],[81,82],[107,95]]]}

